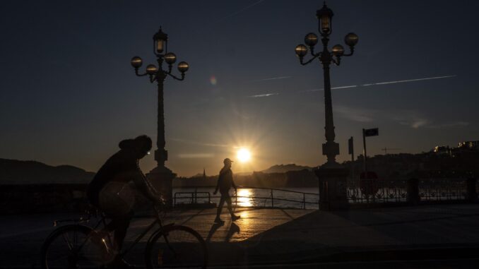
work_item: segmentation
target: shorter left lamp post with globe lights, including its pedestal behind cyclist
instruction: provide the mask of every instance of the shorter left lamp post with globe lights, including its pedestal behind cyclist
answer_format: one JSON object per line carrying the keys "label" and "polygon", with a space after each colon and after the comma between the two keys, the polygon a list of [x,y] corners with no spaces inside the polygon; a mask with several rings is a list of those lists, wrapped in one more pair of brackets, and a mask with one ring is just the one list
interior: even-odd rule
{"label": "shorter left lamp post with globe lights, including its pedestal behind cyclist", "polygon": [[[165,161],[168,160],[167,150],[165,150],[165,111],[163,104],[163,83],[167,76],[175,80],[184,80],[184,73],[188,71],[189,65],[186,61],[181,61],[178,64],[178,71],[181,77],[172,74],[173,64],[177,61],[177,56],[167,51],[168,35],[162,31],[161,27],[158,32],[153,35],[153,52],[157,58],[158,68],[154,64],[146,66],[145,73],[139,73],[138,68],[143,64],[143,60],[134,56],[131,59],[131,66],[135,68],[136,76],[148,76],[150,83],[156,81],[158,85],[158,136],[156,140],[157,150],[155,150],[155,160],[157,167],[150,171],[148,179],[151,179],[152,184],[155,185],[160,192],[162,192],[167,203],[171,205],[172,202],[172,179],[176,176],[173,172],[165,167]],[[163,70],[162,64],[165,61],[168,64],[167,70]]]}

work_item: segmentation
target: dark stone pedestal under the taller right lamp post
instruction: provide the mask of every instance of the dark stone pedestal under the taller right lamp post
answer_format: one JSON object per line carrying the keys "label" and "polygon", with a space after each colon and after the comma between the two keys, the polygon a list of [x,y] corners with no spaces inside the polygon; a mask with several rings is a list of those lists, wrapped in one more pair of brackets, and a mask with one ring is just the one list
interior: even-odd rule
{"label": "dark stone pedestal under the taller right lamp post", "polygon": [[341,165],[323,165],[314,170],[319,179],[319,209],[345,210],[349,208],[347,197],[348,169]]}

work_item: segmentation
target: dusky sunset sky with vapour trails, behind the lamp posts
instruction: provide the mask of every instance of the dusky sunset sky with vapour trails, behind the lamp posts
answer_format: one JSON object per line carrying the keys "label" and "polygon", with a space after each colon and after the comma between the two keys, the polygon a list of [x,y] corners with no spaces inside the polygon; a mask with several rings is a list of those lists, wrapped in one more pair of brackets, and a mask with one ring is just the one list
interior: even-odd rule
{"label": "dusky sunset sky with vapour trails, behind the lamp posts", "polygon": [[[333,44],[359,35],[331,66],[338,161],[420,153],[479,140],[478,1],[327,1]],[[165,81],[167,167],[218,174],[325,162],[323,75],[295,46],[317,33],[322,1],[1,1],[0,157],[95,172],[124,138],[156,139],[156,85],[129,61],[155,63],[160,25],[186,80]],[[343,44],[344,45],[344,44]],[[345,45],[344,45],[345,46]],[[345,46],[346,47],[346,46]],[[319,50],[319,45],[317,45]],[[144,66],[141,70],[144,70]],[[176,71],[176,66],[175,66]],[[152,150],[153,152],[153,150]],[[155,166],[153,154],[141,162]]]}

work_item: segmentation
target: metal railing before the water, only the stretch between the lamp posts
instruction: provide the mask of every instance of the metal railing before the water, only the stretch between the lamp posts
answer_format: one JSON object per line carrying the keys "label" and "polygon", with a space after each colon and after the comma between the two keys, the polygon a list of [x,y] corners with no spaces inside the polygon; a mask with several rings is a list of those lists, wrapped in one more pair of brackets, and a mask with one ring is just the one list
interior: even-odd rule
{"label": "metal railing before the water, only the stretch between the lamp posts", "polygon": [[[302,208],[307,209],[307,205],[318,205],[318,193],[308,193],[303,191],[292,191],[276,188],[262,188],[253,186],[237,186],[238,191],[242,189],[259,190],[259,195],[238,195],[234,193],[231,198],[235,206],[252,208]],[[266,194],[267,193],[267,194]],[[261,195],[264,194],[264,195]],[[173,196],[174,206],[185,204],[211,203],[213,199],[219,200],[221,196],[211,196],[208,191],[178,191]],[[314,197],[314,199],[311,199]],[[239,201],[238,201],[239,200]],[[312,201],[314,200],[314,201]],[[297,207],[300,205],[300,207]],[[314,207],[316,208],[316,207]]]}

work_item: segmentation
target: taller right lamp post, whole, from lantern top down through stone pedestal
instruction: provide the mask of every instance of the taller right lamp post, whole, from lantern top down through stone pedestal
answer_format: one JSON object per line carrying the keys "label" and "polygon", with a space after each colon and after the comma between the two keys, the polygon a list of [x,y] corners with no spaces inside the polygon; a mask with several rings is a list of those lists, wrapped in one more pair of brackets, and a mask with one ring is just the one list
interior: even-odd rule
{"label": "taller right lamp post, whole, from lantern top down through stone pedestal", "polygon": [[[304,37],[304,43],[309,47],[312,59],[304,61],[304,56],[308,53],[308,47],[299,44],[295,47],[296,55],[300,58],[302,65],[312,63],[314,59],[319,59],[323,66],[324,76],[324,110],[325,110],[325,126],[324,133],[326,143],[323,144],[323,155],[326,155],[327,161],[319,169],[316,174],[319,177],[319,199],[321,209],[344,208],[347,206],[346,200],[346,181],[348,171],[336,162],[336,155],[339,155],[339,144],[334,142],[334,122],[333,122],[333,104],[331,100],[331,80],[329,78],[329,66],[331,63],[339,66],[341,57],[351,56],[354,52],[354,46],[357,44],[358,37],[355,33],[350,32],[345,36],[344,41],[350,48],[349,54],[344,54],[344,47],[336,44],[328,49],[329,35],[333,32],[332,18],[333,11],[326,6],[326,1],[321,9],[316,13],[319,20],[319,33],[321,34],[321,43],[323,49],[321,52],[314,52],[314,45],[318,43],[318,36],[313,32]],[[321,203],[322,202],[322,203]]]}

